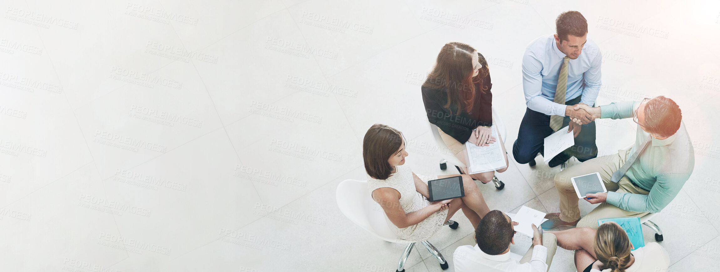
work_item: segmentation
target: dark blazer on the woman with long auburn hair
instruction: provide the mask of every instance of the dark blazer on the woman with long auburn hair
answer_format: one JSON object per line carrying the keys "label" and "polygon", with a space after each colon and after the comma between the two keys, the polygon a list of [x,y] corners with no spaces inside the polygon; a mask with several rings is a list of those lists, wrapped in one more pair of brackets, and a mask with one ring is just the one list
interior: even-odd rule
{"label": "dark blazer on the woman with long auburn hair", "polygon": [[[477,55],[480,55],[478,53]],[[485,58],[480,55],[480,63],[487,65]],[[450,110],[443,106],[447,103],[447,90],[431,89],[423,86],[423,103],[428,114],[428,120],[438,126],[447,135],[452,136],[458,142],[465,143],[472,135],[472,130],[477,126],[492,125],[492,83],[490,73],[485,76],[487,93],[480,91],[480,83],[475,83],[475,100],[470,112],[459,112],[456,105],[450,105]]]}

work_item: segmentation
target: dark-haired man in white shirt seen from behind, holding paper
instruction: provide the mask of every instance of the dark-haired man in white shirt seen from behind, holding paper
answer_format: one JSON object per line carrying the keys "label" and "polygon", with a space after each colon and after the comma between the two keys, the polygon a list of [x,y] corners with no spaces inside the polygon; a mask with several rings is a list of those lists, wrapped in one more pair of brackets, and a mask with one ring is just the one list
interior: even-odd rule
{"label": "dark-haired man in white shirt seen from behind, holding paper", "polygon": [[557,249],[555,235],[542,235],[532,225],[533,245],[521,257],[510,252],[510,244],[515,244],[513,225],[518,225],[518,222],[511,221],[507,214],[497,209],[485,214],[475,230],[477,245],[461,245],[455,250],[455,271],[548,271]]}

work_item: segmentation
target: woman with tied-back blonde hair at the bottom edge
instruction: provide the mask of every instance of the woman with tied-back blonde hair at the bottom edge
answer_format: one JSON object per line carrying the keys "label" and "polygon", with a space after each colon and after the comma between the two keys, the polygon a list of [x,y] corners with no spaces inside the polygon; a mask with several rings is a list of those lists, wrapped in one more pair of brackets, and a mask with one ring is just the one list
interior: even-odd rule
{"label": "woman with tied-back blonde hair at the bottom edge", "polygon": [[634,248],[627,233],[616,222],[548,232],[557,237],[557,245],[575,250],[577,272],[655,272],[667,271],[670,255],[657,242]]}

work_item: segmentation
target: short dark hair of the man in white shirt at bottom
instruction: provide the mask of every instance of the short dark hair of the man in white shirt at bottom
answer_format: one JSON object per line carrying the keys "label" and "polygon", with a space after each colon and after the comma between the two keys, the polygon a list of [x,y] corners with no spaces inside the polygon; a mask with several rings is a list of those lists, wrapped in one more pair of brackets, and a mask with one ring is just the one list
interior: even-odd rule
{"label": "short dark hair of the man in white shirt at bottom", "polygon": [[495,209],[480,219],[475,230],[477,247],[488,255],[499,255],[513,239],[513,225],[503,212]]}

